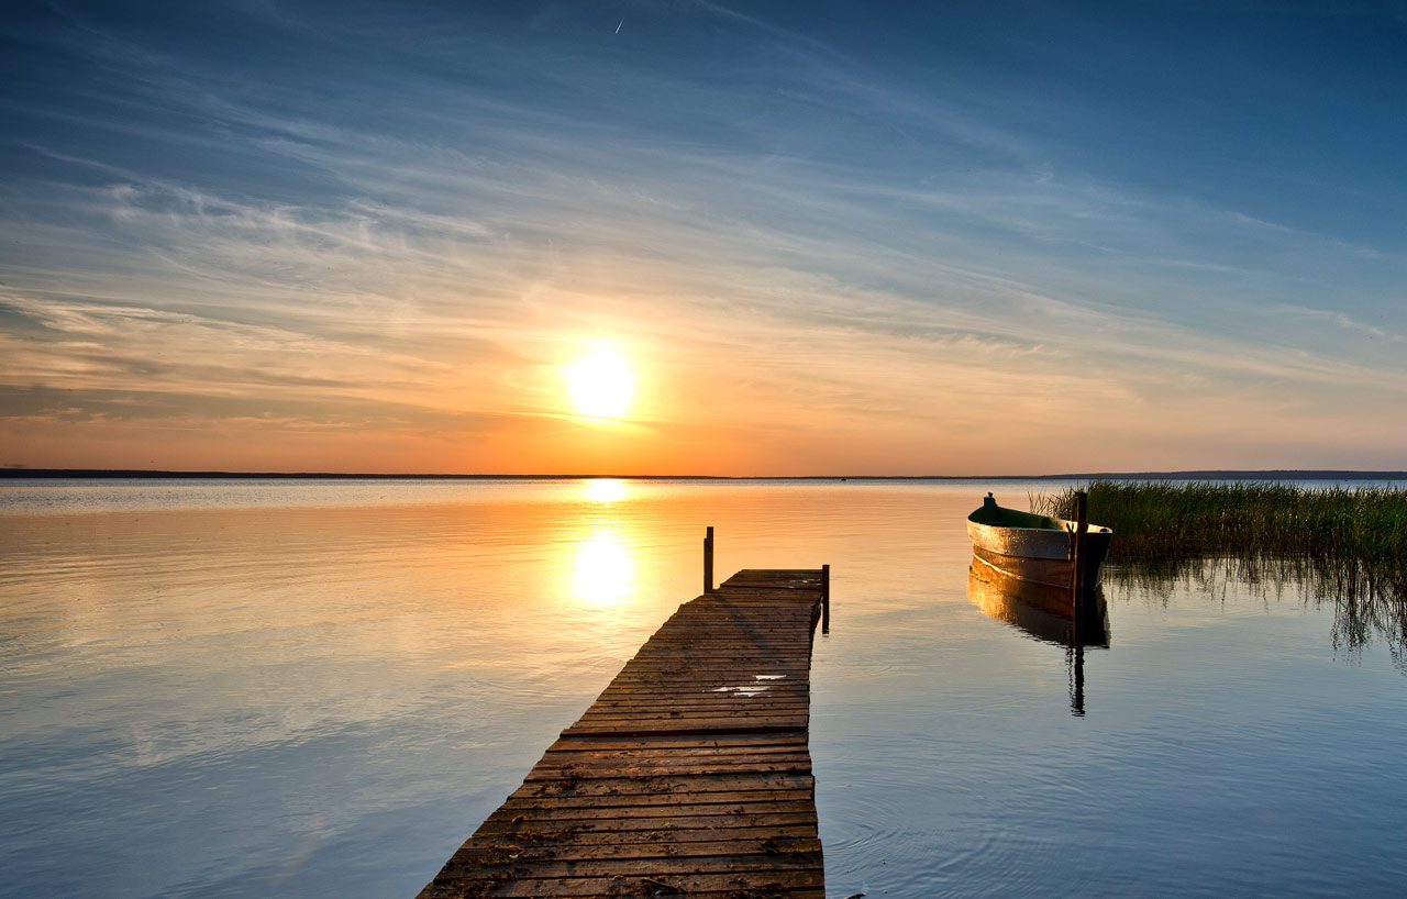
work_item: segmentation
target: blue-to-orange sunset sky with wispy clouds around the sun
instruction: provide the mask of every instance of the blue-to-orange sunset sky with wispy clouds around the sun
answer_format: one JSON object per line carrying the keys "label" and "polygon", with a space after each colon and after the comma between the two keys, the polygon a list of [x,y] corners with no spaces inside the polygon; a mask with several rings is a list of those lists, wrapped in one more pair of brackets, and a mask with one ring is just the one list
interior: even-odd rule
{"label": "blue-to-orange sunset sky with wispy clouds around the sun", "polygon": [[20,0],[0,466],[1407,468],[1404,97],[1407,3]]}

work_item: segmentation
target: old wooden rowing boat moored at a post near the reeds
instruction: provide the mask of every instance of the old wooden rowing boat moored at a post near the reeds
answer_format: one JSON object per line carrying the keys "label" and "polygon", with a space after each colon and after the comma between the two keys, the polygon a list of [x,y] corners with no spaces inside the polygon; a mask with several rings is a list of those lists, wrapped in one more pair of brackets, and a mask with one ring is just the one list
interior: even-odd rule
{"label": "old wooden rowing boat moored at a post near the reeds", "polygon": [[[1085,525],[1085,587],[1099,585],[1109,554],[1109,528]],[[992,494],[968,515],[972,554],[998,571],[1033,584],[1074,585],[1075,522],[999,506]]]}

